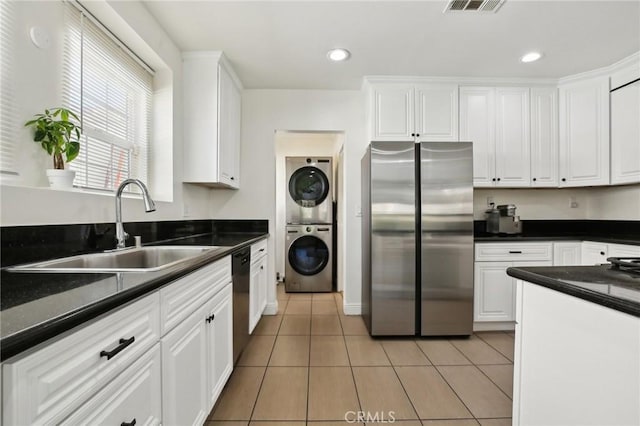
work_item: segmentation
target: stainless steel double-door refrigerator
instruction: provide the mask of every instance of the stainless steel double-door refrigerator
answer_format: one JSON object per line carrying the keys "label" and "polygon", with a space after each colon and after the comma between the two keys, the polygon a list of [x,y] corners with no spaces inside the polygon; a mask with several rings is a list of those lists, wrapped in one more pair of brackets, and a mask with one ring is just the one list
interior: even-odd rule
{"label": "stainless steel double-door refrigerator", "polygon": [[371,142],[362,159],[362,316],[372,336],[473,331],[471,142]]}

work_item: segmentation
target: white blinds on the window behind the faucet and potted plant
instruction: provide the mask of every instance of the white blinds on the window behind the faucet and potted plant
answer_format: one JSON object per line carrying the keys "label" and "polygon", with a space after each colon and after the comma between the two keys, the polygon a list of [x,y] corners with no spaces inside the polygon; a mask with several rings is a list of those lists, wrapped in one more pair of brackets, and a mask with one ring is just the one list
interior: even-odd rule
{"label": "white blinds on the window behind the faucet and potted plant", "polygon": [[[153,76],[85,12],[65,5],[63,103],[79,112],[75,185],[113,190],[147,181]],[[127,190],[134,190],[129,185]]]}

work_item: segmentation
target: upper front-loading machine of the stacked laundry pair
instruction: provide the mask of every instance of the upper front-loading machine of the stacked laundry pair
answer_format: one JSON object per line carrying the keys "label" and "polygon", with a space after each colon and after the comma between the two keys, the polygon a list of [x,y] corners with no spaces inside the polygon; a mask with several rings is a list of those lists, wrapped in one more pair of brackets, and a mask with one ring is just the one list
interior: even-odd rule
{"label": "upper front-loading machine of the stacked laundry pair", "polygon": [[331,158],[286,157],[288,224],[331,224]]}

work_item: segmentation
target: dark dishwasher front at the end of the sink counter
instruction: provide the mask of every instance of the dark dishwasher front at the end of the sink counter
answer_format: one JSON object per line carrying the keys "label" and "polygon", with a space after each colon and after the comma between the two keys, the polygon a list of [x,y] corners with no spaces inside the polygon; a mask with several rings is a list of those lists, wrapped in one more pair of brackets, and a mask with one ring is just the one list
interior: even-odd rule
{"label": "dark dishwasher front at the end of the sink counter", "polygon": [[249,279],[251,273],[251,247],[233,254],[233,364],[249,342]]}

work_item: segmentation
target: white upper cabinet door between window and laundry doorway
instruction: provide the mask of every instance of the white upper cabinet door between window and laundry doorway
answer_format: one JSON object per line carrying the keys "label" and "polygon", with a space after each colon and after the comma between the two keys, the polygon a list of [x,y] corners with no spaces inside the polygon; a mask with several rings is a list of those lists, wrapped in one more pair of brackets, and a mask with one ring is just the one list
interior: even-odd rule
{"label": "white upper cabinet door between window and laundry doorway", "polygon": [[240,91],[229,72],[219,66],[218,170],[221,183],[240,186]]}

